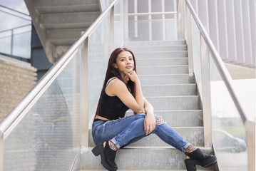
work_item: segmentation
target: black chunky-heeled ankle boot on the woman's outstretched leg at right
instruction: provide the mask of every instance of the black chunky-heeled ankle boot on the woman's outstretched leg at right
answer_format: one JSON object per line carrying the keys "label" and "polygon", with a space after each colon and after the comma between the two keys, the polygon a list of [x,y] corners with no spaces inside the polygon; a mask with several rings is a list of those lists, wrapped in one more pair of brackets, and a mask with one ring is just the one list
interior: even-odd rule
{"label": "black chunky-heeled ankle boot on the woman's outstretched leg at right", "polygon": [[209,167],[217,162],[215,155],[207,155],[203,153],[199,148],[193,152],[185,152],[185,155],[188,155],[190,159],[185,160],[185,165],[188,171],[195,171],[195,165],[200,165],[202,167]]}

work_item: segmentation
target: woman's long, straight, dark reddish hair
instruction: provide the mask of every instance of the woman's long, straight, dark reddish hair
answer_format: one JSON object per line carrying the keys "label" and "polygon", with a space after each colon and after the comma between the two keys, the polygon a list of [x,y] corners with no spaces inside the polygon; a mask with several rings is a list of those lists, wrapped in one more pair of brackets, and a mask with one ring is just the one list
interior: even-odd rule
{"label": "woman's long, straight, dark reddish hair", "polygon": [[[112,78],[112,77],[117,77],[119,80],[123,81],[123,78],[121,77],[120,73],[118,72],[118,68],[115,68],[114,64],[113,64],[113,63],[116,63],[116,58],[118,57],[118,54],[121,53],[122,51],[128,51],[133,56],[133,61],[134,61],[133,71],[135,71],[137,73],[136,61],[135,61],[135,56],[134,56],[133,52],[130,51],[130,49],[128,49],[128,48],[116,48],[111,53],[111,56],[110,56],[110,58],[108,60],[108,68],[107,68],[105,80],[104,80],[104,83],[103,83],[103,88],[101,90],[101,96],[100,96],[100,99],[98,100],[98,106],[97,106],[97,110],[96,110],[96,115],[101,113],[101,99],[102,99],[102,95],[103,95],[103,93],[104,93],[104,91],[106,89],[106,84],[108,83],[108,80],[110,78]],[[125,82],[123,81],[123,83],[125,83]],[[127,86],[130,88],[130,93],[135,98],[135,85],[134,85],[133,81],[129,80],[128,83],[127,83]]]}

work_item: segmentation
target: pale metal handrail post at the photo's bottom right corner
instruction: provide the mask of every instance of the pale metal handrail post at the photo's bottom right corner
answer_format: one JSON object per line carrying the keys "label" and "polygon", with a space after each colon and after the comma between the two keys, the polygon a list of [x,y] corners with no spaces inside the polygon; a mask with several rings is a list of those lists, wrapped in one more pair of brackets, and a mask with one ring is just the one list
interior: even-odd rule
{"label": "pale metal handrail post at the photo's bottom right corner", "polygon": [[255,171],[255,123],[247,120],[245,122],[247,139],[248,171]]}

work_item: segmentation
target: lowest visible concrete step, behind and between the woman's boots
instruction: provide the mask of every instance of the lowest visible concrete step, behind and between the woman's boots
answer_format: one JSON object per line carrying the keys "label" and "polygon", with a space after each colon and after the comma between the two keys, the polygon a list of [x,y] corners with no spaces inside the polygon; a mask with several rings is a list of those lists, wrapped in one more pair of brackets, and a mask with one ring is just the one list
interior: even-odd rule
{"label": "lowest visible concrete step, behind and between the woman's boots", "polygon": [[[202,148],[212,154],[209,148]],[[103,170],[101,157],[91,152],[92,147],[81,151],[81,170]],[[119,170],[185,170],[185,155],[173,147],[125,147],[118,150],[116,164]],[[203,167],[197,166],[198,170]],[[212,167],[208,167],[213,170]]]}

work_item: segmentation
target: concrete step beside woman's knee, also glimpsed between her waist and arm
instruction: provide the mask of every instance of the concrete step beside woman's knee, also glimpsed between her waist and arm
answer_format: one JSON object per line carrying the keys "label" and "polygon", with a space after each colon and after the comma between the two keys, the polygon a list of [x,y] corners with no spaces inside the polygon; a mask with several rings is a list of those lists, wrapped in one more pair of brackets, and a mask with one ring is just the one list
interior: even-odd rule
{"label": "concrete step beside woman's knee, also glimpsed between her waist and arm", "polygon": [[[154,114],[160,116],[171,127],[202,127],[203,110],[154,110]],[[128,110],[126,115],[134,115]]]}

